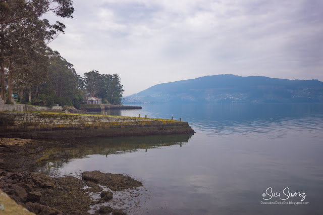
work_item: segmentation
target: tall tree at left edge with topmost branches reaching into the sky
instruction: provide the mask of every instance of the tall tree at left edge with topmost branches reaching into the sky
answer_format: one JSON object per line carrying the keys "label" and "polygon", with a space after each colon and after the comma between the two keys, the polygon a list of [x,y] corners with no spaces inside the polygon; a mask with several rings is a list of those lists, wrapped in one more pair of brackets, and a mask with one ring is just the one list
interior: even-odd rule
{"label": "tall tree at left edge with topmost branches reaching into the sky", "polygon": [[[25,28],[24,30],[28,31],[26,26],[30,27],[32,25],[30,22],[36,23],[35,20],[48,12],[60,17],[73,17],[73,2],[71,0],[0,0],[0,94],[3,99],[5,99],[6,88],[5,71],[8,71],[8,76],[12,76],[10,70],[14,69],[13,59],[22,58],[22,53],[17,53],[15,50],[23,51],[21,49],[27,47],[22,39],[26,37],[26,32],[18,30]],[[57,32],[64,32],[65,28],[60,22],[50,26],[48,21],[43,21],[43,25],[49,30],[41,40],[47,41],[54,39],[58,35]],[[31,40],[38,43],[35,37]]]}

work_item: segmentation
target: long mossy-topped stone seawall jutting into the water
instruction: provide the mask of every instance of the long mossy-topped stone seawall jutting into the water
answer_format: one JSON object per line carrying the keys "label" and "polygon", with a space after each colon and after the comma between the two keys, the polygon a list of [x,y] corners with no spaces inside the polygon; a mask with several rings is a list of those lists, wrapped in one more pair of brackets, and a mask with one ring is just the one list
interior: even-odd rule
{"label": "long mossy-topped stone seawall jutting into the water", "polygon": [[0,137],[75,138],[194,133],[187,122],[136,117],[0,113]]}

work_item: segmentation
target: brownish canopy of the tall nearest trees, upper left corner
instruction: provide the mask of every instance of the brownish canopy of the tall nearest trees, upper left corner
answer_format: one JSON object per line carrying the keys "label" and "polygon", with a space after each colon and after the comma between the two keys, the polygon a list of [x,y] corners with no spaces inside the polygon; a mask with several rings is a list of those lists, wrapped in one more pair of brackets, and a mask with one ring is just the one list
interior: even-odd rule
{"label": "brownish canopy of the tall nearest trees, upper left corner", "polygon": [[41,15],[48,12],[64,18],[73,17],[73,2],[71,0],[0,0],[0,95],[6,99],[5,80],[8,77],[7,101],[9,103],[12,103],[15,73],[44,72],[46,67],[41,64],[48,58],[46,43],[55,39],[60,32],[64,33],[63,23],[56,22],[50,25],[48,20],[39,19]]}

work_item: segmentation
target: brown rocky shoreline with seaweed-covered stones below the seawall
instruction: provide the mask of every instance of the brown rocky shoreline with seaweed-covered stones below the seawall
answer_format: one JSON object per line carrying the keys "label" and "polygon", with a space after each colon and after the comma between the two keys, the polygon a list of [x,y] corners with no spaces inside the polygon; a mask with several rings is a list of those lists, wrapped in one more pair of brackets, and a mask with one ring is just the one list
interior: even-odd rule
{"label": "brown rocky shoreline with seaweed-covered stones below the seawall", "polygon": [[[36,172],[41,151],[62,144],[63,141],[48,144],[48,141],[0,138],[0,189],[35,214],[89,214],[92,205],[96,205],[95,214],[126,214],[104,203],[113,198],[114,191],[142,186],[129,176],[92,171],[83,172],[82,179],[53,178]],[[100,198],[93,199],[93,193]]]}

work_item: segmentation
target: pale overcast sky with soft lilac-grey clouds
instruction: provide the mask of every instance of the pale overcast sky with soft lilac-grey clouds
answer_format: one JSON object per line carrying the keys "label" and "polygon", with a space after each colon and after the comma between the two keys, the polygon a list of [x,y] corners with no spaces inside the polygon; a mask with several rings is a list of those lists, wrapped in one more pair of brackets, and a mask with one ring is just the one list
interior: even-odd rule
{"label": "pale overcast sky with soft lilac-grey clouds", "polygon": [[74,0],[49,43],[76,72],[119,74],[124,96],[234,74],[323,81],[323,1]]}

